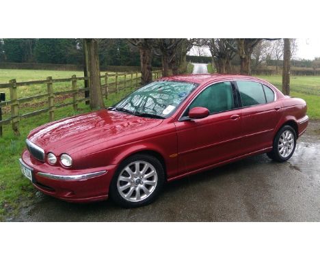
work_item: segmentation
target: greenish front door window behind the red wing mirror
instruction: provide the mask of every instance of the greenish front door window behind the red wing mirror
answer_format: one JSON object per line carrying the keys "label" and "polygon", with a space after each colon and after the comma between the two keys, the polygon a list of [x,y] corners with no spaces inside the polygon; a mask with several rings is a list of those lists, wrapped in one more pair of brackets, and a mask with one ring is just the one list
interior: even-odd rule
{"label": "greenish front door window behind the red wing mirror", "polygon": [[210,114],[234,109],[235,102],[233,101],[232,85],[230,81],[215,83],[206,87],[206,89],[191,102],[187,113],[194,107],[209,109]]}

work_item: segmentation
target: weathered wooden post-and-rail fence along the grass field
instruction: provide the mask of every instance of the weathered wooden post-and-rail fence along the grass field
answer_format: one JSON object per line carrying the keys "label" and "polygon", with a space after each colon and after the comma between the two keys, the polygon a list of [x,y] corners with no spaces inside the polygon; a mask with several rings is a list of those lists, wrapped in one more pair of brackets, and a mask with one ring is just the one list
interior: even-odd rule
{"label": "weathered wooden post-and-rail fence along the grass field", "polygon": [[[162,72],[161,71],[153,71],[152,72],[152,78],[158,79],[161,77]],[[141,78],[139,77],[138,72],[122,72],[122,73],[105,73],[100,76],[101,78],[101,87],[103,88],[103,95],[105,98],[108,98],[109,94],[112,93],[118,93],[121,90],[131,88],[131,89],[137,89],[141,86]],[[26,81],[26,82],[16,82],[15,79],[12,79],[9,81],[9,83],[0,83],[0,92],[1,90],[7,88],[10,89],[10,100],[0,101],[0,108],[10,106],[11,111],[11,117],[5,120],[0,119],[0,128],[4,124],[12,124],[12,130],[14,130],[14,133],[18,134],[18,124],[21,122],[21,120],[25,118],[30,118],[36,115],[40,115],[42,113],[49,113],[49,121],[52,122],[55,120],[55,109],[66,107],[66,106],[72,106],[73,109],[76,111],[77,106],[79,102],[85,102],[87,100],[90,100],[90,98],[80,98],[79,94],[84,94],[88,88],[78,87],[78,83],[80,81],[88,80],[89,77],[76,77],[75,75],[72,75],[71,78],[66,79],[52,79],[52,77],[47,77],[46,80],[40,80],[40,81]],[[110,82],[112,81],[112,82]],[[71,83],[71,90],[64,90],[59,92],[53,92],[53,85],[57,83]],[[31,86],[31,85],[38,85],[38,84],[46,84],[46,93],[39,94],[35,96],[29,96],[29,97],[18,97],[18,88],[21,86]],[[72,95],[72,101],[71,102],[65,102],[59,105],[55,105],[55,97],[57,96],[66,96],[66,95]],[[48,107],[44,109],[38,109],[36,111],[31,111],[28,113],[19,113],[19,109],[21,109],[21,106],[25,102],[30,102],[34,100],[40,100],[40,99],[47,99]],[[0,131],[1,133],[1,131]]]}

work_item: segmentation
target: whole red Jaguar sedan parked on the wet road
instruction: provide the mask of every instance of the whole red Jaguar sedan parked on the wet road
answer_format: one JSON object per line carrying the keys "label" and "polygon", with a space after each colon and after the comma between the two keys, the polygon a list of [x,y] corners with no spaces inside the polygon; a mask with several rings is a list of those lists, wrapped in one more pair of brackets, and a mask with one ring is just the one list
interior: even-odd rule
{"label": "whole red Jaguar sedan parked on the wet road", "polygon": [[306,109],[254,77],[165,77],[109,109],[32,130],[21,170],[38,190],[68,202],[110,196],[142,206],[167,181],[247,156],[287,161],[308,125]]}

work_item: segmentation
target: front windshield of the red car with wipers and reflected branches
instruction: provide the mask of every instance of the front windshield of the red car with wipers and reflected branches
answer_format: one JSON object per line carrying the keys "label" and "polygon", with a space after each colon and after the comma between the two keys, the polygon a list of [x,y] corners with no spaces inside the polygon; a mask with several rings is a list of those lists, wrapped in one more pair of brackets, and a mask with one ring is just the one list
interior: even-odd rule
{"label": "front windshield of the red car with wipers and reflected branches", "polygon": [[196,83],[181,81],[155,81],[129,94],[110,109],[150,118],[168,118],[196,86]]}

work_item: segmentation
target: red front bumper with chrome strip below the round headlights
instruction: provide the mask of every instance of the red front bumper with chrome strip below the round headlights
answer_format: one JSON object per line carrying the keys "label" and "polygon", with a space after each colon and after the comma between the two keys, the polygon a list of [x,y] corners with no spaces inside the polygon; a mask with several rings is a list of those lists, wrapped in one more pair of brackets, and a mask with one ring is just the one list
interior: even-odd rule
{"label": "red front bumper with chrome strip below the round headlights", "polygon": [[28,150],[22,161],[33,169],[32,184],[47,195],[68,202],[94,202],[106,200],[109,184],[116,165],[92,169],[64,169],[34,159]]}

